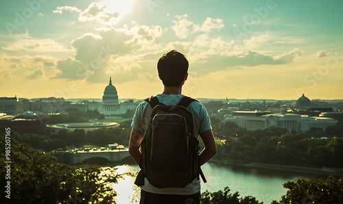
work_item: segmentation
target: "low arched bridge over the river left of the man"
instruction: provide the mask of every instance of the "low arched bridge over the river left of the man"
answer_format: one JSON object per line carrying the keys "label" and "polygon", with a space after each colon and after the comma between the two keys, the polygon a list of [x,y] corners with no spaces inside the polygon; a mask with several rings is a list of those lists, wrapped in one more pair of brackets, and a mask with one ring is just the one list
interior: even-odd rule
{"label": "low arched bridge over the river left of the man", "polygon": [[65,164],[89,164],[95,161],[122,162],[132,161],[128,149],[96,150],[96,151],[60,151],[49,153]]}

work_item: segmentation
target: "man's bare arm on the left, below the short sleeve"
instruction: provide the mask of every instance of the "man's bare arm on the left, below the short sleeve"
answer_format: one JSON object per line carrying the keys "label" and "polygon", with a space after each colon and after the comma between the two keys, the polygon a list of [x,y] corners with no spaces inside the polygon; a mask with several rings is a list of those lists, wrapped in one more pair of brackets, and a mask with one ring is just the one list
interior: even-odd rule
{"label": "man's bare arm on the left, below the short sleeve", "polygon": [[142,134],[137,129],[132,128],[129,141],[129,153],[138,165],[141,165],[142,153],[139,151],[139,145],[141,145],[142,140]]}

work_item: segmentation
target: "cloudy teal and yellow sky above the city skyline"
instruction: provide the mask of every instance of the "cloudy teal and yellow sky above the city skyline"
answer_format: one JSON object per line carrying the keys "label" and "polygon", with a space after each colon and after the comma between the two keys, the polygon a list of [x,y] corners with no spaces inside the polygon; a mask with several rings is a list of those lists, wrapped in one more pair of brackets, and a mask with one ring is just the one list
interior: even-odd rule
{"label": "cloudy teal and yellow sky above the city skyline", "polygon": [[163,92],[156,64],[189,60],[182,93],[343,99],[343,1],[1,1],[0,97],[119,99]]}

